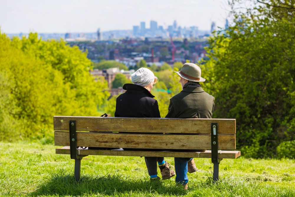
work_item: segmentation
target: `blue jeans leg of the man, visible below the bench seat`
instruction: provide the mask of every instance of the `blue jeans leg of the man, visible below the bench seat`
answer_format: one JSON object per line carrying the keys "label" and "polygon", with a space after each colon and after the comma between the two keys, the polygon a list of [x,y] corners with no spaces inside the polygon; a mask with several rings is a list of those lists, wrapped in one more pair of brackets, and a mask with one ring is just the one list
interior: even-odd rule
{"label": "blue jeans leg of the man, visible below the bench seat", "polygon": [[189,178],[187,177],[187,162],[192,158],[174,158],[175,172],[176,178],[175,182],[185,185],[189,182]]}

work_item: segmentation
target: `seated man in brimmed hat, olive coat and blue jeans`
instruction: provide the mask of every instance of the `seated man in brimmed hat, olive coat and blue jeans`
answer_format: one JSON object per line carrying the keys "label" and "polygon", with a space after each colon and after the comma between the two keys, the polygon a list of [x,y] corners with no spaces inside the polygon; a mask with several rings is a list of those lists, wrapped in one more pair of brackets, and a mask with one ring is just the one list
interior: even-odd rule
{"label": "seated man in brimmed hat, olive coat and blue jeans", "polygon": [[[165,118],[212,118],[214,97],[205,92],[199,82],[204,82],[201,69],[193,63],[185,63],[179,72],[182,91],[170,99],[168,114]],[[193,150],[200,151],[200,150]],[[188,188],[187,172],[196,172],[193,158],[174,158],[176,183]]]}

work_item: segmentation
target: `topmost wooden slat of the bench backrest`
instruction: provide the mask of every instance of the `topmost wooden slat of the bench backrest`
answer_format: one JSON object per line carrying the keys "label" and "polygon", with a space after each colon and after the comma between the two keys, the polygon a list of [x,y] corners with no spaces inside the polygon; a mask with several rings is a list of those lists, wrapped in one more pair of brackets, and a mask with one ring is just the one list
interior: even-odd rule
{"label": "topmost wooden slat of the bench backrest", "polygon": [[117,118],[83,116],[54,116],[54,130],[68,131],[70,120],[76,120],[77,131],[211,134],[211,123],[218,123],[219,134],[236,133],[235,119]]}

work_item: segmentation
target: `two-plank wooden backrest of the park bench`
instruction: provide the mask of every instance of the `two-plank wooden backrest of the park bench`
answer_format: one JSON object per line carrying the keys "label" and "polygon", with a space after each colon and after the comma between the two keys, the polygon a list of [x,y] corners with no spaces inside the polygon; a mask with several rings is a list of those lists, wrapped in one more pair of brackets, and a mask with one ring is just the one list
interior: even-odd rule
{"label": "two-plank wooden backrest of the park bench", "polygon": [[[55,145],[70,145],[69,121],[71,120],[76,121],[76,131],[82,131],[76,132],[77,146],[211,149],[211,123],[217,123],[218,149],[230,150],[236,148],[235,119],[81,116],[54,116]],[[120,133],[104,133],[101,131]]]}

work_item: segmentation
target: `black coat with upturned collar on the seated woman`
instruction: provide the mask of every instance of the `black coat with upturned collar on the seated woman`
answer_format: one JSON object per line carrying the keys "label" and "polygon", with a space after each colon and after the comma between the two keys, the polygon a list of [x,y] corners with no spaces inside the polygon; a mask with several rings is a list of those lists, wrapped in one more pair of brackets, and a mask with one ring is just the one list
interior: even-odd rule
{"label": "black coat with upturned collar on the seated woman", "polygon": [[147,89],[135,84],[124,84],[127,90],[117,97],[115,117],[160,118],[157,100]]}

